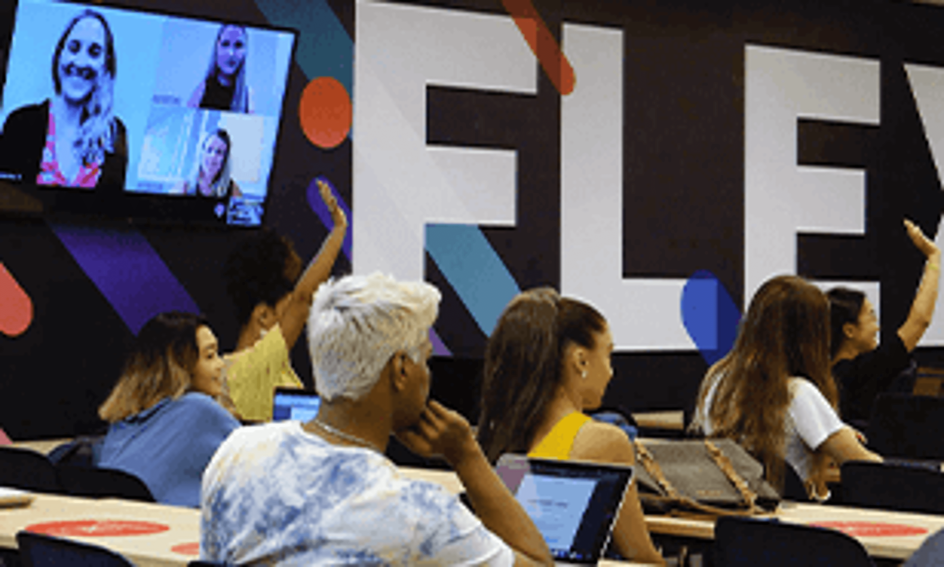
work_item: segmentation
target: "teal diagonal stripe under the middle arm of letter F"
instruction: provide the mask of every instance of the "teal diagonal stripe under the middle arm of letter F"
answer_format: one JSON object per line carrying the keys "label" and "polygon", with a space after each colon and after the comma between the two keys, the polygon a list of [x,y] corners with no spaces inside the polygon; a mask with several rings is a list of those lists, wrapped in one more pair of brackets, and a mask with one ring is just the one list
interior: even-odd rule
{"label": "teal diagonal stripe under the middle arm of letter F", "polygon": [[475,225],[426,225],[426,250],[486,335],[517,295],[514,281],[492,244]]}

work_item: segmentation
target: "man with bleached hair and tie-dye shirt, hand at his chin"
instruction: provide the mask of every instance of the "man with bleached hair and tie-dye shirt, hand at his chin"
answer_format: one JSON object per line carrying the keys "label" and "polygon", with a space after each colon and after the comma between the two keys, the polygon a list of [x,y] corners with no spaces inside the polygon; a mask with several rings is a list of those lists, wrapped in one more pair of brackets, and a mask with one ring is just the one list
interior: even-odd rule
{"label": "man with bleached hair and tie-dye shirt, hand at his chin", "polygon": [[[430,327],[440,293],[381,274],[315,293],[308,319],[315,386],[308,423],[244,427],[203,478],[203,559],[240,565],[533,565],[550,552],[492,470],[468,422],[430,400]],[[392,434],[441,455],[458,497],[408,479],[384,457]]]}

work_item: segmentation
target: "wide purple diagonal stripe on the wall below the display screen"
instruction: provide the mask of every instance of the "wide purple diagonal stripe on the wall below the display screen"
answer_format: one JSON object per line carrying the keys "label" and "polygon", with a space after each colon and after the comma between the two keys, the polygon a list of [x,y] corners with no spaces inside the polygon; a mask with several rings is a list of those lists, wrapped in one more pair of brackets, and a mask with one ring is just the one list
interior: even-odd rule
{"label": "wide purple diagonal stripe on the wall below the display screen", "polygon": [[135,335],[162,311],[199,312],[190,293],[134,228],[49,226]]}

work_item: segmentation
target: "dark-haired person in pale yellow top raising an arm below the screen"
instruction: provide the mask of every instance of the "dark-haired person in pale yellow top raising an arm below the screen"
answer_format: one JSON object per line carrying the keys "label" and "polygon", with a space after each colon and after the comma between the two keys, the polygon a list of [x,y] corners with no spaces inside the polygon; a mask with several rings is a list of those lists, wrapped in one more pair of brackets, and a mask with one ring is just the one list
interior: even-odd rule
{"label": "dark-haired person in pale yellow top raising an arm below the screen", "polygon": [[334,227],[300,277],[301,258],[292,242],[271,230],[246,239],[226,261],[227,292],[241,326],[236,351],[226,357],[225,383],[235,413],[244,420],[271,420],[275,388],[302,387],[289,352],[308,320],[312,295],[331,275],[347,231],[347,217],[329,186],[319,180],[318,189]]}

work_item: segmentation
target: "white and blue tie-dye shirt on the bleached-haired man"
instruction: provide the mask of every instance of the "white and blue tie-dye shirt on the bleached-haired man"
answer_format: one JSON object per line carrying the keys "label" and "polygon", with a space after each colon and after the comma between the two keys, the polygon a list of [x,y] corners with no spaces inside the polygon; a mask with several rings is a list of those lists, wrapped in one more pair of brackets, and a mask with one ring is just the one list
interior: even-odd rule
{"label": "white and blue tie-dye shirt on the bleached-haired man", "polygon": [[442,487],[298,422],[242,427],[203,475],[200,557],[240,565],[512,565]]}

